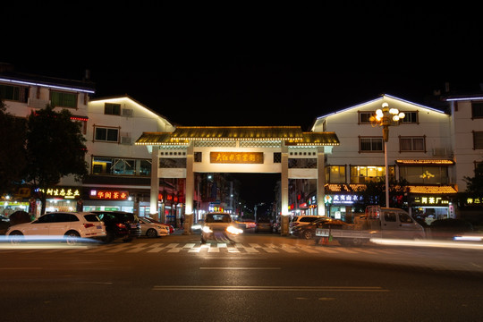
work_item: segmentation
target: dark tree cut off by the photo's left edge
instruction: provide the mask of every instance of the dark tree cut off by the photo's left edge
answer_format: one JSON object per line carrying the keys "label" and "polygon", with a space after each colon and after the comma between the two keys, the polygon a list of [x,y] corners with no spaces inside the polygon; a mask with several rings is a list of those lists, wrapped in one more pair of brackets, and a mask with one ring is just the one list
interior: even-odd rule
{"label": "dark tree cut off by the photo's left edge", "polygon": [[0,100],[0,195],[13,194],[27,165],[25,120],[6,112]]}

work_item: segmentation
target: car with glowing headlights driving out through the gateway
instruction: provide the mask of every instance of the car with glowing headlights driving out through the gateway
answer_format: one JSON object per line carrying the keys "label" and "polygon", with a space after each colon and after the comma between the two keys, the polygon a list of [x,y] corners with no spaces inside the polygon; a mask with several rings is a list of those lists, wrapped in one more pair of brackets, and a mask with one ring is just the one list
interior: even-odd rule
{"label": "car with glowing headlights driving out through the gateway", "polygon": [[242,229],[235,226],[230,214],[208,213],[201,227],[201,243],[216,239],[232,241],[232,237],[240,233]]}

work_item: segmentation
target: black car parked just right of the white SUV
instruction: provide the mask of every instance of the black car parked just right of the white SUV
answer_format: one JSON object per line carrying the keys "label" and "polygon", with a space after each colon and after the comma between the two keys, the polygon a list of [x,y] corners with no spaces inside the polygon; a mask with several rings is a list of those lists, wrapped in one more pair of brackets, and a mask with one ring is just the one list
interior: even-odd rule
{"label": "black car parked just right of the white SUV", "polygon": [[140,237],[140,220],[132,213],[116,210],[90,211],[96,214],[106,225],[106,242],[122,238],[123,242],[131,242],[132,238]]}

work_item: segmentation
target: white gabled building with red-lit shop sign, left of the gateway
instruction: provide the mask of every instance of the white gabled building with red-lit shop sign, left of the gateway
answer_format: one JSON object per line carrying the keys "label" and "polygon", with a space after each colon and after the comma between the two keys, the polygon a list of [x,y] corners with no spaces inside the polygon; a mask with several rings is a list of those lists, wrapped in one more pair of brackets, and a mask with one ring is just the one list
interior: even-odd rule
{"label": "white gabled building with red-lit shop sign, left of the gateway", "polygon": [[[174,131],[174,125],[128,96],[91,100],[88,117],[89,176],[83,181],[84,210],[110,208],[148,215],[152,160],[148,149],[134,142],[143,131]],[[161,191],[168,191],[169,202],[163,200],[162,209],[167,219],[176,213],[175,183],[160,184]]]}

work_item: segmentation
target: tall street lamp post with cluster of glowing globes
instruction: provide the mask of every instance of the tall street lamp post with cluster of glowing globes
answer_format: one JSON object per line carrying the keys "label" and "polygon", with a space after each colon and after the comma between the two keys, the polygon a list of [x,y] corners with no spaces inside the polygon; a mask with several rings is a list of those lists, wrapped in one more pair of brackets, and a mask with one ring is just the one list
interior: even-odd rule
{"label": "tall street lamp post with cluster of glowing globes", "polygon": [[383,140],[384,140],[384,163],[386,166],[386,207],[389,207],[389,167],[387,166],[387,141],[389,140],[389,126],[399,124],[404,118],[404,113],[400,113],[397,108],[389,108],[385,102],[382,104],[382,109],[378,108],[376,115],[371,116],[370,122],[372,124],[382,126]]}

